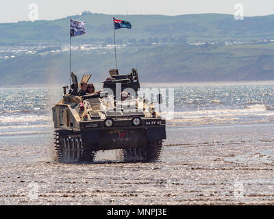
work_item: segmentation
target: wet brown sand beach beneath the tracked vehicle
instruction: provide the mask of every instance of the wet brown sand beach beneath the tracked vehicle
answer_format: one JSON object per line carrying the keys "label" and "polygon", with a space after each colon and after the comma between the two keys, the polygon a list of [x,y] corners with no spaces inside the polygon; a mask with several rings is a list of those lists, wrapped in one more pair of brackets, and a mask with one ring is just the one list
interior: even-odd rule
{"label": "wet brown sand beach beneath the tracked vehicle", "polygon": [[[273,205],[274,125],[167,127],[159,162],[60,164],[51,131],[0,138],[0,205]],[[35,142],[35,143],[34,143]]]}

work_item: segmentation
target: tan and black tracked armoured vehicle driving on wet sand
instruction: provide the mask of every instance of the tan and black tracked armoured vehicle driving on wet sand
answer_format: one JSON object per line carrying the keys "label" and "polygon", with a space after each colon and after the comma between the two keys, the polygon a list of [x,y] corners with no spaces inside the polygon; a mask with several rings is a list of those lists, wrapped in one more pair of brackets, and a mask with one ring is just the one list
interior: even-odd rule
{"label": "tan and black tracked armoured vehicle driving on wet sand", "polygon": [[[88,82],[90,76],[84,75],[80,83]],[[136,69],[127,75],[110,70],[103,90],[84,96],[79,96],[76,75],[71,73],[71,77],[69,93],[63,87],[63,98],[52,108],[60,162],[92,162],[97,151],[110,149],[121,149],[125,160],[151,162],[159,158],[166,138],[165,120],[153,103],[138,96]]]}

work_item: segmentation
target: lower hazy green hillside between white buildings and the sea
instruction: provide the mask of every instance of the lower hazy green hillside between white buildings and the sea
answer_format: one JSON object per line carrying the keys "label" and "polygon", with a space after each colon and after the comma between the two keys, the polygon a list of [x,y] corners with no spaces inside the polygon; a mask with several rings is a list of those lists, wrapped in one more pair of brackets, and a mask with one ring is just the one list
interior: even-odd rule
{"label": "lower hazy green hillside between white buildings and the sea", "polygon": [[[152,45],[117,49],[120,73],[137,68],[142,82],[274,80],[274,44]],[[101,82],[114,51],[73,51],[72,70]],[[69,52],[26,54],[0,61],[0,86],[68,83]]]}

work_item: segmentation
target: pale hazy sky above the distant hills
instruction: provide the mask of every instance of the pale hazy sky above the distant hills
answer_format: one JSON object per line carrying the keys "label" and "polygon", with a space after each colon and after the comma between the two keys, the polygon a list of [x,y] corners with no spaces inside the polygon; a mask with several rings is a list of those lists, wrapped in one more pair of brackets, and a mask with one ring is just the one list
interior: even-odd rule
{"label": "pale hazy sky above the distant hills", "polygon": [[[37,10],[29,6],[34,3]],[[0,23],[54,20],[84,10],[103,14],[235,14],[242,4],[244,16],[274,14],[273,0],[0,0]]]}

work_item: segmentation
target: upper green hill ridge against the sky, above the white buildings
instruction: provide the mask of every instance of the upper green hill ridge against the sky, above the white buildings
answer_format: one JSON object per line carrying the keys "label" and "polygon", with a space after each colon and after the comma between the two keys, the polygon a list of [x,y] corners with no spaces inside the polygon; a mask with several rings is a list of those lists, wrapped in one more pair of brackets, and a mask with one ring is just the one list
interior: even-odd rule
{"label": "upper green hill ridge against the sky, above the white buildings", "polygon": [[[75,43],[93,43],[112,40],[112,17],[132,23],[132,29],[116,31],[117,40],[149,40],[166,42],[187,40],[259,39],[274,36],[274,15],[246,17],[236,21],[227,14],[162,15],[108,15],[83,14],[72,16],[87,21],[88,34],[73,38]],[[0,45],[8,44],[67,44],[70,18],[55,21],[36,21],[0,24]]]}

